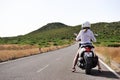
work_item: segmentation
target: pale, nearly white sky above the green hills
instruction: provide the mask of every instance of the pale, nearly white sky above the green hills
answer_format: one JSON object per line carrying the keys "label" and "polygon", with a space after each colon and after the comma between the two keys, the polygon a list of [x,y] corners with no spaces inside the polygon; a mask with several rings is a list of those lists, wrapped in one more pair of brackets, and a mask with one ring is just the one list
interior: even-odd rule
{"label": "pale, nearly white sky above the green hills", "polygon": [[0,36],[24,35],[51,22],[120,21],[120,0],[0,0]]}

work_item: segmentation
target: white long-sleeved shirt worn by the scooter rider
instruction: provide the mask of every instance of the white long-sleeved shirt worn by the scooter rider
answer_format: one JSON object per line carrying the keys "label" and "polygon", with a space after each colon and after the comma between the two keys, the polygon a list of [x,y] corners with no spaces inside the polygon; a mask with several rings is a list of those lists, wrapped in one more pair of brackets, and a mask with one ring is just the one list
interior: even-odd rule
{"label": "white long-sleeved shirt worn by the scooter rider", "polygon": [[76,37],[76,41],[79,40],[81,40],[80,43],[91,43],[91,40],[93,42],[96,42],[96,38],[94,37],[94,34],[90,29],[88,29],[86,32],[84,31],[84,29],[81,30]]}

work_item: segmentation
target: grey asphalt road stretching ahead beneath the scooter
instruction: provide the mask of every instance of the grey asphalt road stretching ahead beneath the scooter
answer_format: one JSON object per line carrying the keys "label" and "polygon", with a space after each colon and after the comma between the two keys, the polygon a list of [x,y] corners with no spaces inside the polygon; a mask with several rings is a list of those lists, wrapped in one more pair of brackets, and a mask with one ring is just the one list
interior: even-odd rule
{"label": "grey asphalt road stretching ahead beneath the scooter", "polygon": [[97,67],[91,75],[77,68],[71,71],[78,44],[39,55],[0,63],[0,80],[120,80],[101,64],[103,72]]}

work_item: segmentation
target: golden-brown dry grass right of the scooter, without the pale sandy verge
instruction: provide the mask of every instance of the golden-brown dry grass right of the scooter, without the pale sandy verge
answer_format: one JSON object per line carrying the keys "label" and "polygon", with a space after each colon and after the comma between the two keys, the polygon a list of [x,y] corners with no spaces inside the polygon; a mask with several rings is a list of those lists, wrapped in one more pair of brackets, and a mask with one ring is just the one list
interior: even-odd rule
{"label": "golden-brown dry grass right of the scooter, without the pale sandy verge", "polygon": [[113,60],[120,64],[120,47],[96,47],[95,50],[106,58],[106,63],[111,64]]}

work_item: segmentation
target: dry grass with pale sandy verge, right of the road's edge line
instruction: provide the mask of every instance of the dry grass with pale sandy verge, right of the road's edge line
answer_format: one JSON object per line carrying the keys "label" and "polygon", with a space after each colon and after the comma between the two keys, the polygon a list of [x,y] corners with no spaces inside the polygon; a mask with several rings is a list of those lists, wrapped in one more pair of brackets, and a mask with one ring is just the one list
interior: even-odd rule
{"label": "dry grass with pale sandy verge, right of the road's edge line", "polygon": [[97,55],[116,72],[120,72],[120,47],[96,47]]}

